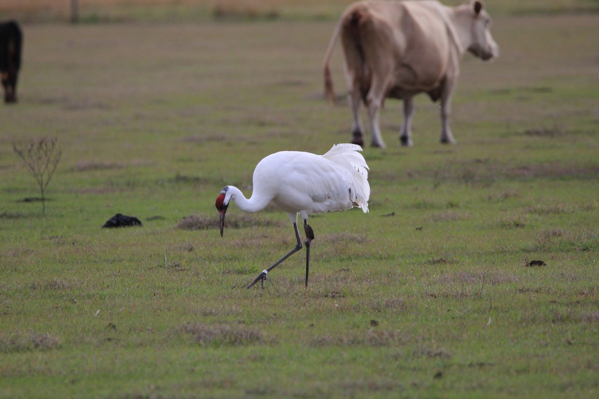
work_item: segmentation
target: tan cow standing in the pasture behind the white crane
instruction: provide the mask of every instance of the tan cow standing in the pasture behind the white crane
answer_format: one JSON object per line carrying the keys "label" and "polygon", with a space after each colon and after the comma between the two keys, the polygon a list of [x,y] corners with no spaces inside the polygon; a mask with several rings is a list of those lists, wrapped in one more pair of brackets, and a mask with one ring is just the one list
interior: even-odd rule
{"label": "tan cow standing in the pasture behind the white crane", "polygon": [[483,60],[497,57],[499,47],[489,26],[491,18],[480,1],[458,7],[440,2],[360,1],[341,16],[324,62],[325,92],[333,102],[329,63],[341,35],[352,106],[354,144],[364,145],[360,99],[368,108],[373,147],[385,147],[379,111],[385,98],[404,101],[402,145],[412,145],[413,96],[427,93],[441,100],[441,142],[455,143],[449,129],[450,100],[466,51]]}

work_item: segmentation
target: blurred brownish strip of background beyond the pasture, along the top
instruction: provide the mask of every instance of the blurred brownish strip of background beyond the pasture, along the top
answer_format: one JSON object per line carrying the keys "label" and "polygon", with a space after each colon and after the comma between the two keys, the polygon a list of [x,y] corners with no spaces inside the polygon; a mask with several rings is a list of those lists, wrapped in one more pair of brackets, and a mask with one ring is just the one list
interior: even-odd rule
{"label": "blurred brownish strip of background beyond the pasture, along the top", "polygon": [[[2,0],[0,19],[25,22],[336,19],[352,0]],[[446,0],[447,5],[464,1]],[[492,15],[589,13],[599,0],[488,0]]]}

